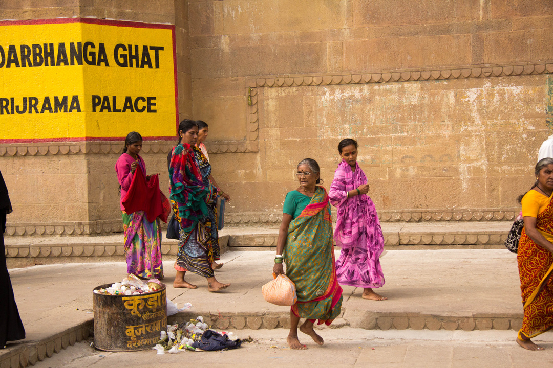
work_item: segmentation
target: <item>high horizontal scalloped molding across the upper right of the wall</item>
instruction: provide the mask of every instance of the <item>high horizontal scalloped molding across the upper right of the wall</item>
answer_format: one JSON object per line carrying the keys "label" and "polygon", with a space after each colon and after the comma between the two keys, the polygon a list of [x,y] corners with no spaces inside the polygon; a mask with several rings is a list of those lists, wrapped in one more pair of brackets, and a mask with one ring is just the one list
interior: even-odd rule
{"label": "high horizontal scalloped molding across the upper right of the wall", "polygon": [[488,78],[549,73],[553,73],[553,62],[551,61],[535,64],[459,67],[437,70],[392,70],[370,74],[327,74],[279,78],[252,77],[248,79],[248,87],[254,89],[256,87],[330,86],[332,84],[435,81],[437,79]]}

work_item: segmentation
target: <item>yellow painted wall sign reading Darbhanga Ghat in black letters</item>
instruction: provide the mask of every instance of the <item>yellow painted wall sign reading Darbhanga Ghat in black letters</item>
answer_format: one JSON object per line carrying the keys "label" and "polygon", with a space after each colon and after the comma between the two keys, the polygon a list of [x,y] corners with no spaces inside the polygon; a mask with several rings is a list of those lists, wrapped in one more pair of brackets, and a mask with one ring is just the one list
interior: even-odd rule
{"label": "yellow painted wall sign reading Darbhanga Ghat in black letters", "polygon": [[0,142],[172,139],[174,26],[0,22]]}

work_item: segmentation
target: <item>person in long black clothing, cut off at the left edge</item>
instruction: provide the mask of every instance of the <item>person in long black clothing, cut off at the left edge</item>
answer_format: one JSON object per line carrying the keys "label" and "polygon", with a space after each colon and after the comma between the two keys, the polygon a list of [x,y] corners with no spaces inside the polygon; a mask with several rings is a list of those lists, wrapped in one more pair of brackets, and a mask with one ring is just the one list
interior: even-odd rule
{"label": "person in long black clothing, cut off at the left edge", "polygon": [[17,304],[15,304],[4,248],[6,215],[11,212],[12,204],[9,201],[8,188],[6,188],[2,172],[0,172],[0,349],[4,349],[8,341],[25,338],[25,328],[19,317]]}

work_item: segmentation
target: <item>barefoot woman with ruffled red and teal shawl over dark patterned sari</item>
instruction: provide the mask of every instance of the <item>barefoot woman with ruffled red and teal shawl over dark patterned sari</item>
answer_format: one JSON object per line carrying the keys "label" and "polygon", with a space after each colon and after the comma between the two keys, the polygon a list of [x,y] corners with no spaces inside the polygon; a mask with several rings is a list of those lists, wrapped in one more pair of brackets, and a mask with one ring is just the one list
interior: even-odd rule
{"label": "barefoot woman with ruffled red and teal shawl over dark patterned sari", "polygon": [[209,162],[194,146],[198,137],[196,122],[182,120],[179,137],[179,145],[173,148],[169,162],[171,204],[180,224],[173,286],[196,289],[196,285],[184,280],[186,271],[191,271],[207,279],[207,290],[221,291],[231,284],[222,284],[213,274],[213,262],[219,258],[217,225],[213,221],[217,217],[215,204],[219,190],[210,180]]}

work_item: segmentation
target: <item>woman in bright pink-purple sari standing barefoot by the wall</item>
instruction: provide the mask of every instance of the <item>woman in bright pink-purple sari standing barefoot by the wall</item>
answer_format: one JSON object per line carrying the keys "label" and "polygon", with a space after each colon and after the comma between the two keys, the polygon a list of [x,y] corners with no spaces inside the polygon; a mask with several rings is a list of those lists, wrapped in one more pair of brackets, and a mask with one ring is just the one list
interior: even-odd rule
{"label": "woman in bright pink-purple sari standing barefoot by the wall", "polygon": [[328,191],[337,207],[335,241],[341,247],[336,261],[340,285],[363,287],[364,299],[387,300],[373,291],[384,285],[380,254],[384,237],[374,203],[367,195],[367,176],[357,163],[357,142],[346,138],[338,144],[342,162]]}

